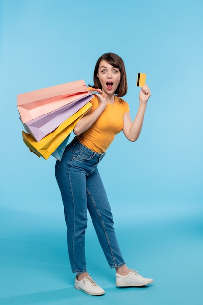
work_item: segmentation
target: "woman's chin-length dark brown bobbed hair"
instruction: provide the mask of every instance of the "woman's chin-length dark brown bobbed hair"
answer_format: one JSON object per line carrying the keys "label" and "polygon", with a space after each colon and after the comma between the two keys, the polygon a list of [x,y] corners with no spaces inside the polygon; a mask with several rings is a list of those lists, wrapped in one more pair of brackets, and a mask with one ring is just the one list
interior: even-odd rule
{"label": "woman's chin-length dark brown bobbed hair", "polygon": [[104,53],[102,56],[99,57],[97,60],[95,69],[94,69],[94,88],[101,88],[101,84],[99,78],[97,77],[99,71],[99,64],[102,60],[108,62],[111,66],[118,68],[121,73],[121,80],[118,85],[118,88],[115,91],[115,95],[122,97],[127,93],[128,86],[127,86],[127,77],[126,77],[126,69],[124,66],[123,59],[115,53]]}

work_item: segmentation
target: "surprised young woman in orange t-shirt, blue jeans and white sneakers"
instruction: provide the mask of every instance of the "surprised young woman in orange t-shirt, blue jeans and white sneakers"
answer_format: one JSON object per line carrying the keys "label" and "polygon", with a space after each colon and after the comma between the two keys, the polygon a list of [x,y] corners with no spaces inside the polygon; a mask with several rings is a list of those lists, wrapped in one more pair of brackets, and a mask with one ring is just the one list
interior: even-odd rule
{"label": "surprised young woman in orange t-shirt, blue jeans and white sneakers", "polygon": [[56,162],[55,175],[61,191],[67,225],[68,253],[75,288],[90,295],[105,291],[88,275],[85,260],[87,209],[106,259],[116,269],[116,286],[143,286],[153,282],[129,269],[119,249],[111,208],[97,165],[115,135],[121,130],[130,141],[140,135],[150,90],[147,85],[139,93],[139,109],[132,122],[129,105],[120,97],[127,92],[123,60],[105,53],[94,70],[95,94],[91,110],[76,124],[74,140],[68,144],[61,161]]}

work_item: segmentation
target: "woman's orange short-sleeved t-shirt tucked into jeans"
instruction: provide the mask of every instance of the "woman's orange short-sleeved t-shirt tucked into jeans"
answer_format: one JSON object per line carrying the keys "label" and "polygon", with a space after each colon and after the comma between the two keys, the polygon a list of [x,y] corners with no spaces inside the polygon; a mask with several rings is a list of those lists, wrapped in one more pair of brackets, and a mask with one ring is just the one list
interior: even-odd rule
{"label": "woman's orange short-sleeved t-shirt tucked into jeans", "polygon": [[[90,102],[92,103],[91,112],[93,112],[99,106],[99,102],[96,96]],[[115,135],[123,129],[123,115],[128,111],[130,111],[128,103],[115,96],[114,104],[108,103],[96,122],[77,136],[78,140],[94,152],[105,152]]]}

